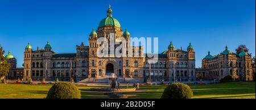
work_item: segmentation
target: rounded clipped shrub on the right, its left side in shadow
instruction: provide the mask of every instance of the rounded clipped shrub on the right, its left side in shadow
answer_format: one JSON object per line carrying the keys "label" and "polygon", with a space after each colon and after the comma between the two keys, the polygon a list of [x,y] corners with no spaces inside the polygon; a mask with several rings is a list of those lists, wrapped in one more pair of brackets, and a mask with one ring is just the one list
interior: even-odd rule
{"label": "rounded clipped shrub on the right, its left side in shadow", "polygon": [[191,99],[193,91],[187,84],[172,83],[166,87],[162,99]]}

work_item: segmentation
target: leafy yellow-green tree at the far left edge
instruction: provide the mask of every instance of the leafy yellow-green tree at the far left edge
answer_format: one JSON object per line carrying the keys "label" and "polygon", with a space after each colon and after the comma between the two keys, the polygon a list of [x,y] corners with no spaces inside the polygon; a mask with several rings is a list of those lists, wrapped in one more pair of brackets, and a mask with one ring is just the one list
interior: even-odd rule
{"label": "leafy yellow-green tree at the far left edge", "polygon": [[5,80],[6,75],[9,73],[11,65],[7,62],[7,59],[5,58],[5,50],[3,50],[3,47],[0,45],[0,79]]}

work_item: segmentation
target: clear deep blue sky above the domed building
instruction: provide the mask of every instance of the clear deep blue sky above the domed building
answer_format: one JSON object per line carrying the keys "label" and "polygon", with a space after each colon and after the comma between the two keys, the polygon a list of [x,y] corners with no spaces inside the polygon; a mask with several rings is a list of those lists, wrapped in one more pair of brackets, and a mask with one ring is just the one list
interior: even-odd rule
{"label": "clear deep blue sky above the domed building", "polygon": [[210,50],[218,54],[240,44],[255,56],[255,0],[0,0],[0,44],[23,64],[28,42],[34,50],[46,42],[57,53],[75,53],[88,35],[113,17],[133,37],[159,37],[159,53],[172,41],[176,48],[192,43],[196,67]]}

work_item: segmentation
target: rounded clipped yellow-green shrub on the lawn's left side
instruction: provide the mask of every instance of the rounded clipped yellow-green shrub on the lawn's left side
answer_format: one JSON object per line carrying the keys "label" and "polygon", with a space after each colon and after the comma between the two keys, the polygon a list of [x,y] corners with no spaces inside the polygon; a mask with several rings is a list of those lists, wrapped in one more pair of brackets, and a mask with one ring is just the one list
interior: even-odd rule
{"label": "rounded clipped yellow-green shrub on the lawn's left side", "polygon": [[81,92],[70,82],[58,82],[49,89],[46,99],[81,99]]}

